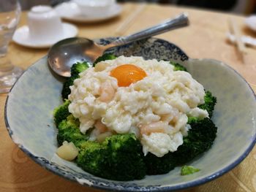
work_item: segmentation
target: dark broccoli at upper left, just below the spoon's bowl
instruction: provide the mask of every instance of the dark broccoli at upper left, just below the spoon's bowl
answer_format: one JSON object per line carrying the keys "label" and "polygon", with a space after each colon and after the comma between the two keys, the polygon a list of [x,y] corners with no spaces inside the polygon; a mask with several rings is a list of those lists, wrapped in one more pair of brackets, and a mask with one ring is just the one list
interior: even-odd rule
{"label": "dark broccoli at upper left, just below the spoon's bowl", "polygon": [[61,96],[62,99],[68,99],[69,94],[71,93],[70,91],[70,86],[74,85],[74,80],[79,77],[80,72],[85,71],[88,69],[89,65],[86,62],[83,63],[76,63],[71,66],[71,77],[68,77],[67,80],[63,84],[63,88],[61,91]]}

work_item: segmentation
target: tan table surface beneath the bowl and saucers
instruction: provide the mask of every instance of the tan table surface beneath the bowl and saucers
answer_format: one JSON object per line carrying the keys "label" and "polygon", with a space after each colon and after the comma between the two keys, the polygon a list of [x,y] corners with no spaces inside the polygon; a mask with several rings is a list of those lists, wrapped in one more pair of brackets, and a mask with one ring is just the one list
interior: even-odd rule
{"label": "tan table surface beneath the bowl and saucers", "polygon": [[[116,28],[128,15],[138,7],[137,4],[124,4],[120,17],[97,24],[76,23],[80,37],[99,38],[116,36]],[[244,26],[244,17],[226,15],[198,9],[160,6],[147,4],[132,25],[123,35],[131,34],[162,20],[173,17],[180,12],[188,12],[191,25],[187,28],[162,34],[166,39],[181,47],[191,58],[215,58],[229,64],[249,82],[256,91],[256,50],[246,48],[244,61],[239,58],[236,46],[227,42],[227,20],[234,18],[242,34],[256,37]],[[26,13],[23,13],[20,26],[26,24]],[[45,50],[34,50],[10,44],[12,62],[24,69],[28,68],[47,54]],[[7,95],[0,95],[0,191],[98,191],[70,182],[42,169],[28,158],[10,139],[4,125],[4,103]],[[256,191],[256,147],[236,166],[235,169],[204,185],[186,191]]]}

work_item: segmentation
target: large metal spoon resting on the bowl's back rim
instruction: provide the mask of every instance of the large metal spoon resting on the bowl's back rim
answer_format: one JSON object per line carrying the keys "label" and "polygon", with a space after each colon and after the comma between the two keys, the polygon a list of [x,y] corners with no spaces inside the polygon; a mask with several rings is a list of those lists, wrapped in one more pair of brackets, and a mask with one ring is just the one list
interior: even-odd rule
{"label": "large metal spoon resting on the bowl's back rim", "polygon": [[189,25],[189,20],[186,14],[178,15],[176,18],[160,23],[157,26],[147,28],[138,33],[127,37],[120,37],[109,45],[97,45],[91,39],[86,38],[69,38],[57,42],[50,48],[48,53],[48,64],[53,72],[63,77],[70,77],[70,67],[77,61],[86,60],[93,63],[105,50],[112,47],[126,45],[130,42],[135,42],[140,39],[162,34],[172,29],[181,28]]}

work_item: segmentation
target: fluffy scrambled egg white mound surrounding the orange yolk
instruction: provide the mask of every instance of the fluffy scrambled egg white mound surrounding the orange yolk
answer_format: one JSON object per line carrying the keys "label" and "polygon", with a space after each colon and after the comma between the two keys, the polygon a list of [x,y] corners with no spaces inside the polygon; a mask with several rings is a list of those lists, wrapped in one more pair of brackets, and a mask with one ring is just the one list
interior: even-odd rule
{"label": "fluffy scrambled egg white mound surrounding the orange yolk", "polygon": [[[110,74],[124,64],[140,67],[146,77],[120,86],[120,78],[127,77],[117,80]],[[208,117],[206,110],[197,107],[204,95],[203,85],[188,72],[173,71],[167,61],[120,56],[80,74],[71,87],[69,112],[79,118],[82,133],[95,127],[91,140],[102,134],[134,133],[145,155],[162,157],[182,145],[189,116]]]}

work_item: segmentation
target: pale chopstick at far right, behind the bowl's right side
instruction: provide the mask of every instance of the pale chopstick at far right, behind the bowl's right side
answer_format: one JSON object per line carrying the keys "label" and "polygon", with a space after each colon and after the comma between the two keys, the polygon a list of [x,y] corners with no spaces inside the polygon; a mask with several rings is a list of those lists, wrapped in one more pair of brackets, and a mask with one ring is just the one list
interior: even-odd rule
{"label": "pale chopstick at far right, behind the bowl's right side", "polygon": [[244,42],[242,42],[241,34],[240,34],[240,31],[238,30],[236,21],[233,19],[230,19],[229,26],[230,26],[231,34],[234,34],[234,36],[236,37],[236,44],[237,44],[239,53],[241,53],[241,55],[244,55],[244,53],[246,53],[246,48],[244,46]]}

